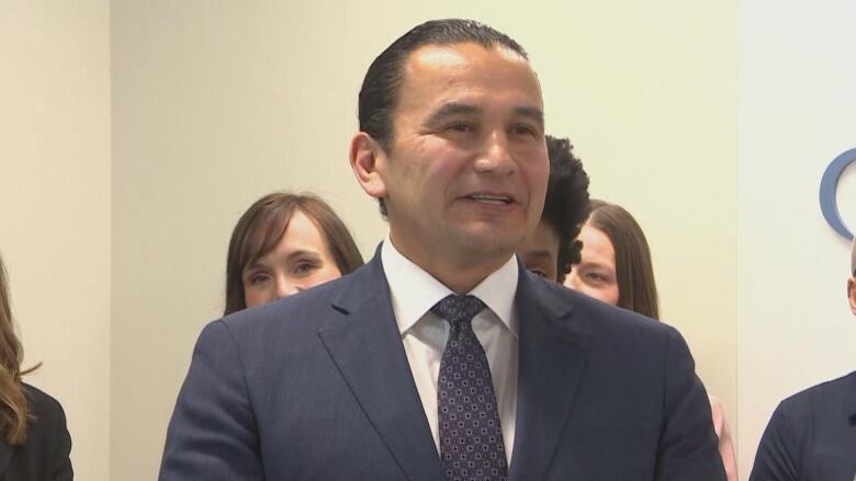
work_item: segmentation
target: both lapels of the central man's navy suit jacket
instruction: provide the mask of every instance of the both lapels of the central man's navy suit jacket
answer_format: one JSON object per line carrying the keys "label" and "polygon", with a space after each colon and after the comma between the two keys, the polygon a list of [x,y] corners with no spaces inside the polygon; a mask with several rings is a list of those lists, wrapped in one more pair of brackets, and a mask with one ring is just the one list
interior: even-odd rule
{"label": "both lapels of the central man's navy suit jacket", "polygon": [[[509,479],[542,479],[552,462],[588,358],[587,322],[564,289],[519,265],[517,426]],[[333,301],[343,318],[320,330],[330,357],[409,480],[444,479],[410,374],[380,251]],[[563,300],[557,300],[563,299]]]}

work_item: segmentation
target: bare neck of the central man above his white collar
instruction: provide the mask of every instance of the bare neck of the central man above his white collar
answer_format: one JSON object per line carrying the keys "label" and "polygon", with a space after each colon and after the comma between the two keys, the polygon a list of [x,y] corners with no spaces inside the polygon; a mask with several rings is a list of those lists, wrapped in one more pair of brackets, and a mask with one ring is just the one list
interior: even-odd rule
{"label": "bare neck of the central man above his white collar", "polygon": [[440,253],[424,244],[408,245],[392,236],[390,240],[402,255],[458,295],[473,290],[514,255],[514,251],[494,255],[485,252]]}

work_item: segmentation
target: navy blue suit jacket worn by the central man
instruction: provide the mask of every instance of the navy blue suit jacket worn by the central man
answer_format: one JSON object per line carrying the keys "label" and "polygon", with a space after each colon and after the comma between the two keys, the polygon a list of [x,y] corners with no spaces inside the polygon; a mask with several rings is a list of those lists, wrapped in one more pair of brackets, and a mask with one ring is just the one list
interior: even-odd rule
{"label": "navy blue suit jacket worn by the central man", "polygon": [[[708,398],[674,329],[520,268],[509,478],[725,480]],[[443,479],[380,255],[209,324],[160,480]]]}

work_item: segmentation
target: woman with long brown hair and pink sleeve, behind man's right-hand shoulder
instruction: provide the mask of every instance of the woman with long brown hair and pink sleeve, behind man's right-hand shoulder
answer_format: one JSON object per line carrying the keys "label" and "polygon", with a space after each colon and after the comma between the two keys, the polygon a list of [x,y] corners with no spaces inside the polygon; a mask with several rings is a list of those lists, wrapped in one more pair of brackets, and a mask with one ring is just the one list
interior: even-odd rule
{"label": "woman with long brown hair and pink sleeve, behind man's right-hand shoulder", "polygon": [[[588,216],[577,238],[582,261],[565,278],[565,286],[595,299],[660,320],[660,300],[654,266],[645,233],[623,207],[592,199]],[[713,428],[729,481],[736,481],[737,467],[722,403],[710,397]]]}

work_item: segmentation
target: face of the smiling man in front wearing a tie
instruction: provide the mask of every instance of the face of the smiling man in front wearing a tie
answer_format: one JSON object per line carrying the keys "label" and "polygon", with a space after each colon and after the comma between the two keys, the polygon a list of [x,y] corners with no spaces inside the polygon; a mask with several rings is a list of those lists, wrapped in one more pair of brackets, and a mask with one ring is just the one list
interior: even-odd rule
{"label": "face of the smiling man in front wearing a tie", "polygon": [[528,61],[429,45],[404,67],[394,140],[378,159],[393,243],[416,264],[507,260],[541,217],[549,172]]}

